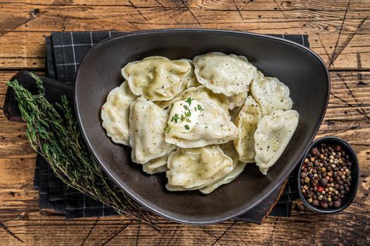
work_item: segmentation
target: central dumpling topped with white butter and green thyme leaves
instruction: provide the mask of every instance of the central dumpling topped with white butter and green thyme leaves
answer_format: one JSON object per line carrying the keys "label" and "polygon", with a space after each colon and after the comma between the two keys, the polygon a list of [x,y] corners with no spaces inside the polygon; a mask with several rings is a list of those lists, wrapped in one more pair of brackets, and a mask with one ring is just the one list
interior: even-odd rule
{"label": "central dumpling topped with white butter and green thyme leaves", "polygon": [[181,148],[199,148],[234,140],[238,129],[228,112],[209,98],[174,103],[165,141]]}

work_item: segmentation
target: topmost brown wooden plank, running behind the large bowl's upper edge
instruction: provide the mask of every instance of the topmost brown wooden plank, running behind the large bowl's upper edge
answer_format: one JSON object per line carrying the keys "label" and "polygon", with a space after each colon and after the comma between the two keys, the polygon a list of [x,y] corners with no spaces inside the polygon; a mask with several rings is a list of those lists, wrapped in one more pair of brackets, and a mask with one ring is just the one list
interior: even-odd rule
{"label": "topmost brown wooden plank, running behind the large bowl's upper edge", "polygon": [[44,67],[44,35],[53,31],[206,27],[310,34],[312,50],[329,67],[370,69],[366,1],[17,2],[0,4],[0,68]]}

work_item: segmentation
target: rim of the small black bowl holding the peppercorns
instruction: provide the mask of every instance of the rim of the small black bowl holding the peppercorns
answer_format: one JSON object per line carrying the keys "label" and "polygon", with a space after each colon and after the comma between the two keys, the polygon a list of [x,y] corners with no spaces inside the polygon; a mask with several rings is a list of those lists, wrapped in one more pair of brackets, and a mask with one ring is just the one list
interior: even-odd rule
{"label": "rim of the small black bowl holding the peppercorns", "polygon": [[[325,141],[333,141],[333,142],[336,142],[338,143],[338,145],[343,145],[345,146],[348,150],[350,150],[350,156],[352,157],[352,160],[353,160],[353,163],[356,167],[357,167],[357,175],[356,176],[352,176],[352,181],[351,181],[351,184],[353,183],[354,180],[356,180],[356,186],[355,187],[351,187],[351,193],[350,193],[350,196],[347,198],[347,200],[345,200],[345,203],[343,203],[342,205],[340,205],[340,207],[338,208],[331,208],[331,209],[324,209],[324,208],[321,208],[321,207],[314,207],[313,205],[310,204],[310,202],[307,201],[307,199],[305,198],[305,196],[302,194],[302,190],[301,190],[301,184],[300,184],[300,169],[302,168],[302,164],[305,162],[305,157],[307,156],[307,154],[310,152],[311,148],[313,148],[314,146],[318,145],[319,143],[323,143]],[[317,212],[319,214],[335,214],[335,213],[338,213],[344,209],[346,209],[347,207],[349,207],[351,205],[351,203],[353,202],[353,200],[355,200],[355,197],[356,197],[356,194],[357,194],[357,189],[359,187],[359,176],[360,176],[360,170],[359,170],[359,160],[357,158],[357,155],[355,153],[355,150],[353,150],[352,146],[350,145],[350,143],[348,143],[347,141],[345,141],[344,139],[342,138],[338,138],[336,136],[324,136],[322,138],[318,138],[317,140],[313,141],[310,145],[310,148],[308,148],[305,152],[305,155],[304,157],[302,157],[302,160],[300,162],[300,165],[299,165],[299,170],[298,170],[298,174],[297,174],[297,182],[298,182],[298,193],[300,195],[300,200],[302,200],[303,204],[308,207],[309,209],[311,209],[312,211],[314,212]]]}

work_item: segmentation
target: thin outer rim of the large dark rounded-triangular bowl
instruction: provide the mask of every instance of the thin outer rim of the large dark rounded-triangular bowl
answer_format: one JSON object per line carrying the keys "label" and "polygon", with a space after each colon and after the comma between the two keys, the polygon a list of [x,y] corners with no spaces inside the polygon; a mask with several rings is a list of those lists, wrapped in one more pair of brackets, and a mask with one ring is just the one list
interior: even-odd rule
{"label": "thin outer rim of the large dark rounded-triangular bowl", "polygon": [[[328,100],[329,100],[330,91],[331,91],[330,75],[329,75],[329,72],[328,72],[328,68],[326,67],[326,64],[319,57],[319,55],[317,55],[317,53],[314,53],[314,51],[310,50],[310,48],[307,48],[307,47],[302,46],[302,45],[300,45],[298,43],[295,43],[294,41],[282,39],[280,37],[269,36],[269,35],[266,35],[266,34],[256,34],[256,33],[253,33],[253,32],[241,32],[241,31],[222,30],[222,29],[170,28],[170,29],[143,30],[143,31],[135,31],[135,32],[122,33],[122,34],[115,34],[112,37],[108,37],[107,39],[104,39],[102,41],[99,41],[98,44],[96,44],[95,46],[93,46],[89,50],[89,52],[87,53],[87,55],[84,56],[84,58],[82,59],[82,61],[79,63],[79,67],[77,68],[77,72],[76,72],[75,87],[74,87],[74,92],[73,92],[73,99],[74,99],[73,101],[74,101],[75,114],[76,114],[76,117],[77,117],[78,126],[79,126],[79,129],[82,132],[82,138],[84,139],[84,142],[87,144],[87,147],[89,148],[89,151],[93,155],[93,157],[96,160],[96,162],[98,162],[98,164],[101,166],[101,168],[106,172],[106,174],[108,174],[108,176],[110,177],[110,179],[113,180],[115,182],[115,184],[119,188],[121,188],[122,190],[124,190],[125,193],[127,195],[129,195],[130,198],[132,198],[135,202],[138,202],[140,205],[143,205],[143,207],[146,207],[151,212],[154,212],[155,214],[158,214],[159,216],[162,216],[164,218],[170,219],[172,221],[175,221],[175,222],[178,222],[178,223],[181,223],[181,224],[189,224],[189,225],[217,224],[217,223],[221,223],[223,221],[227,221],[229,219],[233,219],[233,218],[235,218],[237,216],[240,216],[241,214],[245,214],[245,212],[247,212],[248,210],[253,209],[253,207],[255,207],[256,205],[258,205],[260,202],[262,202],[264,199],[266,199],[274,190],[276,190],[276,188],[278,188],[281,185],[281,182],[272,181],[272,188],[268,192],[264,193],[264,195],[261,195],[260,196],[260,200],[256,200],[255,202],[253,202],[248,207],[248,209],[245,209],[245,208],[244,209],[240,209],[239,212],[236,212],[236,213],[231,214],[231,215],[223,216],[222,219],[217,219],[217,218],[216,219],[209,219],[208,221],[203,222],[203,221],[192,221],[192,220],[189,221],[187,219],[182,219],[182,218],[177,218],[177,217],[174,217],[174,216],[170,216],[170,215],[166,214],[165,212],[161,212],[158,209],[155,209],[155,208],[151,207],[150,205],[147,205],[146,202],[142,202],[140,198],[137,198],[136,197],[136,193],[131,192],[127,186],[125,186],[124,184],[122,184],[122,182],[120,182],[120,180],[116,179],[115,176],[113,174],[111,174],[111,172],[106,167],[104,167],[104,165],[102,164],[103,162],[100,160],[99,155],[94,151],[94,148],[91,146],[91,143],[89,142],[87,131],[85,131],[84,127],[82,126],[82,119],[80,117],[79,104],[78,104],[78,98],[77,98],[77,93],[76,93],[76,91],[78,90],[77,89],[77,86],[78,86],[78,83],[77,82],[79,80],[81,80],[81,75],[80,75],[80,72],[79,71],[80,71],[82,65],[84,65],[84,63],[86,63],[86,61],[89,58],[89,56],[91,55],[91,53],[93,53],[97,48],[99,48],[100,46],[106,44],[107,42],[113,41],[115,39],[120,39],[122,37],[134,37],[134,36],[139,36],[139,35],[147,35],[147,34],[150,35],[150,34],[158,34],[158,33],[159,34],[160,33],[174,33],[174,34],[177,34],[179,32],[181,32],[181,33],[184,33],[184,32],[189,32],[189,33],[203,32],[205,34],[207,34],[207,33],[234,34],[234,35],[246,36],[246,37],[259,37],[259,38],[262,38],[262,39],[272,39],[274,41],[279,41],[279,42],[283,42],[283,43],[286,43],[286,44],[290,44],[291,46],[298,47],[298,48],[304,50],[305,52],[309,53],[314,58],[316,58],[317,61],[323,67],[323,70],[324,70],[324,72],[326,74],[326,78],[325,79],[326,79],[326,83],[328,85],[328,91],[326,93],[326,102],[325,102],[325,105],[324,105],[324,110],[321,113],[321,117],[319,119],[319,124],[317,124],[317,127],[314,128],[314,134],[312,134],[312,137],[310,139],[310,142],[313,141],[314,136],[316,136],[317,131],[319,131],[319,127],[321,126],[321,123],[322,123],[322,121],[324,119],[324,115],[326,113],[326,109],[328,108]],[[310,143],[308,143],[305,146],[305,150],[307,150],[309,147],[310,147]],[[286,174],[284,174],[282,176],[282,180],[285,180],[289,176],[289,174],[291,174],[291,172],[293,171],[293,169],[298,165],[299,160],[302,159],[304,153],[305,153],[305,151],[303,151],[300,154],[300,156],[298,157],[298,160],[295,162],[295,164],[291,165],[291,167],[289,168],[289,171],[287,171]]]}

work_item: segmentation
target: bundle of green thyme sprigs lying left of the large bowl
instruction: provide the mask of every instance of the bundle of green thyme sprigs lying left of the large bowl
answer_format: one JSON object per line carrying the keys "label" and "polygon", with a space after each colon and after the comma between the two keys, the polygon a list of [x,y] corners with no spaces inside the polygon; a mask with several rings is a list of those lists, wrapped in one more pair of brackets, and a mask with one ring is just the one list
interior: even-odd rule
{"label": "bundle of green thyme sprigs lying left of the large bowl", "polygon": [[156,217],[118,188],[91,156],[67,98],[61,96],[60,103],[52,105],[44,97],[42,80],[32,73],[30,76],[39,89],[36,94],[17,80],[8,82],[8,86],[15,91],[32,148],[45,157],[56,176],[68,186],[113,207],[118,214],[132,216],[158,229]]}

